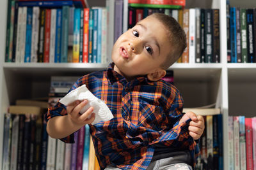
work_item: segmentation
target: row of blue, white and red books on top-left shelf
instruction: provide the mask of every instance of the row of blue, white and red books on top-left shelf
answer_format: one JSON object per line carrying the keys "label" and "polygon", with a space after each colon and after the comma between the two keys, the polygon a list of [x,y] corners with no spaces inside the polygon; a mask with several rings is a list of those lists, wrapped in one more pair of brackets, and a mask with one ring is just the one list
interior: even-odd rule
{"label": "row of blue, white and red books on top-left shelf", "polygon": [[106,8],[13,4],[6,62],[106,62]]}

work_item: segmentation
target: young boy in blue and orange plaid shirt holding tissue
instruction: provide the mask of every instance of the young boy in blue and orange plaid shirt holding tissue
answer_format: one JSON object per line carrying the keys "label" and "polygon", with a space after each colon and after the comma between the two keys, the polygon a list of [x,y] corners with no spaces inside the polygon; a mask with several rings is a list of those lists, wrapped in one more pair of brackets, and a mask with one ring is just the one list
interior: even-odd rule
{"label": "young boy in blue and orange plaid shirt holding tissue", "polygon": [[[204,119],[192,112],[183,115],[179,90],[161,80],[184,48],[186,35],[175,19],[150,15],[117,39],[107,71],[87,74],[72,87],[86,84],[113,113],[113,119],[90,125],[101,169],[195,165],[194,139],[202,135]],[[79,114],[86,103],[49,108],[49,135],[73,143],[73,133],[95,118],[92,107]]]}

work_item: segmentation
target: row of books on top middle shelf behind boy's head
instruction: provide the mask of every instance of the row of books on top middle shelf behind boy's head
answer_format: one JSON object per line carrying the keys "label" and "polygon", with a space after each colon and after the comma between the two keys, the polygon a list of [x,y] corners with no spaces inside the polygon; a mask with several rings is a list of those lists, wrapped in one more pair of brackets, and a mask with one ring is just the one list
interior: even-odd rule
{"label": "row of books on top middle shelf behind boy's head", "polygon": [[187,36],[187,48],[178,62],[220,62],[219,10],[191,8],[184,10],[168,8],[129,7],[129,28],[152,13],[165,13],[182,25]]}

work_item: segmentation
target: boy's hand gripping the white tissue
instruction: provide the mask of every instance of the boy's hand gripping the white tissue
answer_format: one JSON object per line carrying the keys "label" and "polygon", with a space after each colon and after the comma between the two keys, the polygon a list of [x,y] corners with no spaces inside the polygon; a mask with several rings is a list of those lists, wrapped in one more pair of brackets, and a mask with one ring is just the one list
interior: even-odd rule
{"label": "boy's hand gripping the white tissue", "polygon": [[88,101],[75,101],[67,106],[68,117],[74,125],[86,125],[92,124],[95,113],[93,113],[93,107],[88,108],[83,114],[79,112],[87,104]]}

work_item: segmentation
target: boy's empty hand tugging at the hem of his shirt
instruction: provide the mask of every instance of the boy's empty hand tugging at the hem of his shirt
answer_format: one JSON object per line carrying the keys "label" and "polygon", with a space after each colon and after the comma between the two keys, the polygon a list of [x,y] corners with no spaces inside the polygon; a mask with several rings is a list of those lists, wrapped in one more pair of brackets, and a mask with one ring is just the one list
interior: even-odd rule
{"label": "boy's empty hand tugging at the hem of his shirt", "polygon": [[185,115],[183,115],[183,117],[180,119],[179,124],[186,122],[186,120],[188,120],[189,118],[191,118],[191,122],[189,122],[188,127],[189,135],[195,140],[199,139],[204,132],[204,118],[189,111]]}

